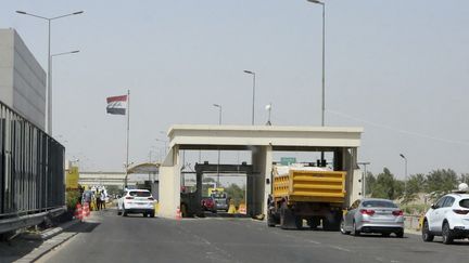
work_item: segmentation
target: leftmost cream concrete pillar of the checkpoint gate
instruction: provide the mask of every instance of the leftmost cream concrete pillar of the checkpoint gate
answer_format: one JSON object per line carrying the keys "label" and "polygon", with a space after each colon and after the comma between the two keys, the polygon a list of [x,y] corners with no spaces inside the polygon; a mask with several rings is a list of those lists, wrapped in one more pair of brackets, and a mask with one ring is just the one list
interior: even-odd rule
{"label": "leftmost cream concrete pillar of the checkpoint gate", "polygon": [[159,216],[174,219],[180,206],[181,162],[179,147],[174,146],[160,167]]}

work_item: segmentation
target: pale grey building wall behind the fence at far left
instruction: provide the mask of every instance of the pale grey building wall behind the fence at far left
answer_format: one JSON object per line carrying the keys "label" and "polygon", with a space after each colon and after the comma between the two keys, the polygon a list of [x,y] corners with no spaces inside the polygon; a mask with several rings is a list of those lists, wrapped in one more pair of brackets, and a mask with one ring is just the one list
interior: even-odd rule
{"label": "pale grey building wall behind the fence at far left", "polygon": [[46,71],[15,29],[0,29],[0,101],[46,128]]}

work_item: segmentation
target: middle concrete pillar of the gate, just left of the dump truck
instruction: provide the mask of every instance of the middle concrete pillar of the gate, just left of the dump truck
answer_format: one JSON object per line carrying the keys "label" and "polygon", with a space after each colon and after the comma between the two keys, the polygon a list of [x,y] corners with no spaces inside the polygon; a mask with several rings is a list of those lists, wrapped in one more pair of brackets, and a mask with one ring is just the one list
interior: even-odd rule
{"label": "middle concrete pillar of the gate, just left of the dump truck", "polygon": [[[248,213],[267,213],[267,198],[271,193],[271,146],[257,146],[252,152],[253,174],[248,177]],[[269,184],[266,184],[267,180]]]}

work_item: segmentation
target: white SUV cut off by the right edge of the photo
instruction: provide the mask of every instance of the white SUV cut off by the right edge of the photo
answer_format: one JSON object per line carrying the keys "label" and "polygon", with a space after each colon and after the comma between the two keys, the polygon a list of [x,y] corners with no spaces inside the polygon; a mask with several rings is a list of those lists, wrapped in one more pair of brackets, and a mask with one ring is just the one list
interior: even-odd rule
{"label": "white SUV cut off by the right edge of the photo", "polygon": [[432,205],[423,218],[422,239],[433,241],[442,236],[443,244],[469,238],[469,194],[448,194]]}

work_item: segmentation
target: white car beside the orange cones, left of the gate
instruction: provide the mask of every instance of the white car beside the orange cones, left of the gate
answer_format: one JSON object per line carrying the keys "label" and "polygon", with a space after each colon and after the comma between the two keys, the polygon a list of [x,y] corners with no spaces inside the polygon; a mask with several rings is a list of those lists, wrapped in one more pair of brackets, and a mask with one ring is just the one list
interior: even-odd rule
{"label": "white car beside the orange cones, left of the gate", "polygon": [[154,201],[148,189],[127,189],[117,200],[117,214],[142,213],[145,218],[154,218]]}

